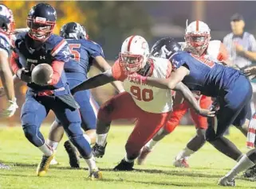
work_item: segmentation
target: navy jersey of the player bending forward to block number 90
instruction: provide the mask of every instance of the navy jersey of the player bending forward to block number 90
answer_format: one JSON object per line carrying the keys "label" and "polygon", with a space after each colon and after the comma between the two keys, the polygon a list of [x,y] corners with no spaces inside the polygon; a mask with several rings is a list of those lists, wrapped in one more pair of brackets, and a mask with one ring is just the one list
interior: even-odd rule
{"label": "navy jersey of the player bending forward to block number 90", "polygon": [[184,66],[190,70],[183,83],[191,91],[200,91],[202,95],[217,97],[224,95],[234,87],[241,71],[225,67],[206,58],[188,52],[177,52],[170,58],[173,69]]}

